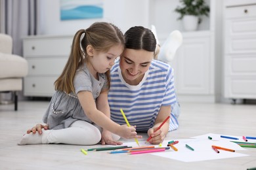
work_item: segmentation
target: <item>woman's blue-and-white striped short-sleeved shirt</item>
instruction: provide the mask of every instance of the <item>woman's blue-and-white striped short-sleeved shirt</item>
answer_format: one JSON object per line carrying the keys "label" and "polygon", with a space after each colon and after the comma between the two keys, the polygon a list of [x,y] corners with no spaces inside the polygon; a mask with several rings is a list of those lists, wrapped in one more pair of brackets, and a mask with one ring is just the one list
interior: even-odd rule
{"label": "woman's blue-and-white striped short-sleeved shirt", "polygon": [[[160,107],[177,102],[173,69],[166,63],[153,60],[140,84],[131,86],[123,80],[117,61],[111,71],[108,102],[114,122],[125,124],[120,112],[123,109],[130,125],[136,125],[137,131],[148,131],[154,126]],[[169,131],[178,126],[177,118],[171,114]]]}

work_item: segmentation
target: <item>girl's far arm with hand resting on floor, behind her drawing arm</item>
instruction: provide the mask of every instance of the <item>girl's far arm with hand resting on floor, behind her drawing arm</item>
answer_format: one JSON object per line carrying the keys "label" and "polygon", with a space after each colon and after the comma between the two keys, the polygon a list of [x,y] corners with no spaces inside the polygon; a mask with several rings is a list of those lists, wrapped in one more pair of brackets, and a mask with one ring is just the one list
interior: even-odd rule
{"label": "girl's far arm with hand resting on floor, behind her drawing arm", "polygon": [[[110,118],[110,107],[108,105],[108,91],[100,93],[96,101],[96,107],[98,110],[103,112],[108,118]],[[122,143],[118,141],[113,141],[112,133],[107,129],[102,129],[101,144],[119,145]]]}

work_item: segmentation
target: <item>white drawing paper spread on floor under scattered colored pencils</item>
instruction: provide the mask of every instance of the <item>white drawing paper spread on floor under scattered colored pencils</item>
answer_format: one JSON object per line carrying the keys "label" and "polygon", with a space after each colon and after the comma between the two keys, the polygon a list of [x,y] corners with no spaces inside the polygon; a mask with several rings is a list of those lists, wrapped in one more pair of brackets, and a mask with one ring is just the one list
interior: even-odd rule
{"label": "white drawing paper spread on floor under scattered colored pencils", "polygon": [[[211,133],[212,134],[212,133]],[[161,156],[164,158],[169,158],[173,160],[191,162],[191,161],[204,161],[204,160],[217,160],[217,159],[224,159],[224,158],[236,158],[240,156],[248,156],[247,154],[240,154],[238,153],[239,150],[246,150],[242,148],[236,143],[232,143],[229,141],[214,141],[214,140],[205,140],[205,136],[198,137],[198,139],[173,139],[174,141],[179,141],[179,143],[175,144],[174,146],[178,149],[178,151],[174,151],[170,148],[170,150],[165,150],[165,152],[156,152],[156,153],[148,153],[154,156]],[[208,137],[208,136],[207,136]],[[145,141],[139,142],[140,146],[149,145],[148,143],[145,144]],[[167,146],[168,141],[165,140],[162,143],[162,146]],[[185,144],[188,144],[194,151],[186,148]],[[127,146],[134,146],[137,147],[137,143],[123,143],[123,145]],[[151,144],[150,144],[151,145]],[[226,150],[219,150],[219,154],[211,148],[212,145],[221,146],[223,148],[230,148],[232,150],[236,150],[236,152],[229,152]],[[159,146],[159,145],[155,145]]]}

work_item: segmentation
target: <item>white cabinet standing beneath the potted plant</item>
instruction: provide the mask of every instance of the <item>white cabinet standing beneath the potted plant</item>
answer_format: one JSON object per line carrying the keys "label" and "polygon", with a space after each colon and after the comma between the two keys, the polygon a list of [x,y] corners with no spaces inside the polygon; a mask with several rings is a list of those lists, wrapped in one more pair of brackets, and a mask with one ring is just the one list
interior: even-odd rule
{"label": "white cabinet standing beneath the potted plant", "polygon": [[214,102],[214,53],[211,32],[184,32],[182,46],[171,66],[175,87],[181,101]]}

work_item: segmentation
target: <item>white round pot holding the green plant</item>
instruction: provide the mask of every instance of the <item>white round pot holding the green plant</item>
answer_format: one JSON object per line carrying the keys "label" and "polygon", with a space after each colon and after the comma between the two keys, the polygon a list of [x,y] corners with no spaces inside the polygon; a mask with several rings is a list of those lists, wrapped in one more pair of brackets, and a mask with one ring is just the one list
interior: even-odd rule
{"label": "white round pot holding the green plant", "polygon": [[196,31],[198,29],[198,16],[185,15],[182,19],[182,24],[185,31]]}

